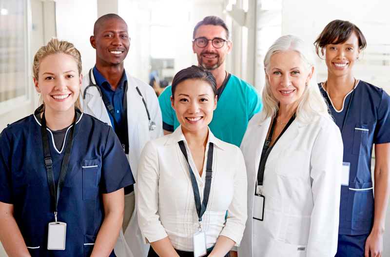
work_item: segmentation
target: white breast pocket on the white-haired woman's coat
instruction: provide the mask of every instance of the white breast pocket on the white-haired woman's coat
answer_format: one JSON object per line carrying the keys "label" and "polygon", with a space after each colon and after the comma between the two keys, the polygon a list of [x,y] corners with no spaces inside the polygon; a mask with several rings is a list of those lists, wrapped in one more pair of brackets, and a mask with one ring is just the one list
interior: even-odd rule
{"label": "white breast pocket on the white-haired woman's coat", "polygon": [[299,178],[303,174],[306,152],[283,149],[276,163],[276,173],[289,177]]}

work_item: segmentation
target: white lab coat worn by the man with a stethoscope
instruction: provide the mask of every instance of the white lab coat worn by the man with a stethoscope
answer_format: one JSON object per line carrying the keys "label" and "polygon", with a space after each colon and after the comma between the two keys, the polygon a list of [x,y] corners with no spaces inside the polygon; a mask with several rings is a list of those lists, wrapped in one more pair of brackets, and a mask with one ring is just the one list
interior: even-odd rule
{"label": "white lab coat worn by the man with a stethoscope", "polygon": [[[127,128],[129,134],[129,154],[127,158],[134,178],[137,178],[137,166],[142,149],[150,139],[163,136],[161,110],[158,99],[153,88],[139,79],[133,78],[128,72],[127,77]],[[92,83],[96,84],[93,72],[91,73]],[[90,84],[88,74],[82,80],[81,92]],[[150,118],[156,123],[156,129],[149,131],[149,119],[142,97],[138,94],[136,87],[141,92],[148,106]],[[108,111],[101,99],[98,89],[95,86],[88,88],[85,100],[82,102],[83,112],[92,115],[103,122],[113,126],[108,116]],[[134,184],[135,192],[137,184]],[[137,198],[137,197],[136,197]],[[149,251],[149,244],[144,245],[141,231],[137,221],[137,205],[130,219],[130,223],[123,234],[122,229],[115,245],[115,254],[118,257],[145,257]]]}

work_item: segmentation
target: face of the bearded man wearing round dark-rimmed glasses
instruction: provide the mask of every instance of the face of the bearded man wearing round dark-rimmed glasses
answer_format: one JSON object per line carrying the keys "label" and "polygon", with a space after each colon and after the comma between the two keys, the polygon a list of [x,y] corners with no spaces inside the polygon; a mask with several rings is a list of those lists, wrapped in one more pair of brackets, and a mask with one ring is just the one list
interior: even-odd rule
{"label": "face of the bearded man wearing round dark-rimmed glasses", "polygon": [[[222,39],[226,38],[226,31],[221,26],[215,25],[202,25],[196,30],[195,39],[205,38],[206,40]],[[225,56],[232,49],[232,42],[225,42],[221,48],[215,48],[211,41],[208,41],[206,47],[198,47],[193,42],[193,51],[198,59],[199,66],[202,66],[206,70],[214,70],[221,66],[225,61]]]}

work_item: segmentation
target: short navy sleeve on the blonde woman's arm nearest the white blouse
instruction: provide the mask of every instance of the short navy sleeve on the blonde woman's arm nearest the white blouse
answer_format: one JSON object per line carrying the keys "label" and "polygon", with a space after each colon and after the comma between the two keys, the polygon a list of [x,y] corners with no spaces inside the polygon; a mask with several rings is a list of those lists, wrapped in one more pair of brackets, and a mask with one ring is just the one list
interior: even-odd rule
{"label": "short navy sleeve on the blonde woman's arm nearest the white blouse", "polygon": [[100,191],[103,194],[115,192],[135,183],[122,145],[113,128],[107,127],[106,145],[101,160]]}

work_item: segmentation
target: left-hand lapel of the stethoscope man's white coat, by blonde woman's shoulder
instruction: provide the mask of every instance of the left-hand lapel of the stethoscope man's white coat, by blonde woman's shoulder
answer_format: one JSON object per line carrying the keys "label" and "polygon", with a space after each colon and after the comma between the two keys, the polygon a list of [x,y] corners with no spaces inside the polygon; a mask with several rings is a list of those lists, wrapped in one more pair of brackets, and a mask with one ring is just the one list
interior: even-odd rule
{"label": "left-hand lapel of the stethoscope man's white coat, by blonde woman's shoulder", "polygon": [[[89,81],[89,78],[87,78],[87,81],[89,82],[88,85],[96,84],[93,74],[91,74],[91,79],[92,81]],[[86,95],[87,96],[85,97],[85,101],[87,101],[87,106],[91,111],[91,115],[113,126],[111,124],[110,117],[108,116],[108,111],[106,109],[106,106],[104,105],[103,99],[100,97],[98,88],[96,86],[89,87],[86,92]]]}

